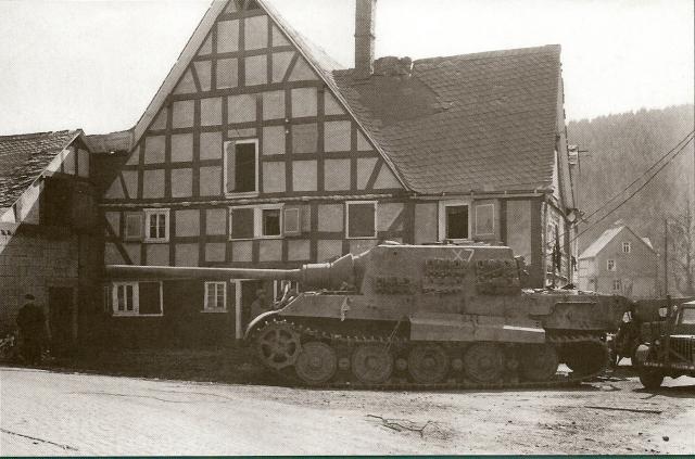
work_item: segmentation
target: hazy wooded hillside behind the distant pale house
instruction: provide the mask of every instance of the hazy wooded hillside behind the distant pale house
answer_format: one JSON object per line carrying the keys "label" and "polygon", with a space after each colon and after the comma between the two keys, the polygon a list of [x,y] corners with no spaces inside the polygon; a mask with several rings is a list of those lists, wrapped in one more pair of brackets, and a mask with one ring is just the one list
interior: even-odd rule
{"label": "hazy wooded hillside behind the distant pale house", "polygon": [[[693,130],[693,105],[679,105],[570,122],[569,143],[586,151],[580,153],[574,183],[578,207],[590,215],[642,176]],[[592,227],[646,178],[581,225],[580,232],[586,232],[580,238],[580,253],[618,219],[641,237],[648,237],[657,252],[664,253],[664,218],[683,218],[695,202],[693,149],[691,142],[649,184],[603,221]]]}

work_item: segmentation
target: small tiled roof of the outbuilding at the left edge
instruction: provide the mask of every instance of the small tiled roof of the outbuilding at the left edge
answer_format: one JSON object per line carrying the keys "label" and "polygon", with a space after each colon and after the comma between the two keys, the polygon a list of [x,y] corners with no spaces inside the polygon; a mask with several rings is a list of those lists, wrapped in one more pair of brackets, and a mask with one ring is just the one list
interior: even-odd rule
{"label": "small tiled roof of the outbuilding at the left edge", "polygon": [[0,136],[0,207],[10,207],[81,130]]}

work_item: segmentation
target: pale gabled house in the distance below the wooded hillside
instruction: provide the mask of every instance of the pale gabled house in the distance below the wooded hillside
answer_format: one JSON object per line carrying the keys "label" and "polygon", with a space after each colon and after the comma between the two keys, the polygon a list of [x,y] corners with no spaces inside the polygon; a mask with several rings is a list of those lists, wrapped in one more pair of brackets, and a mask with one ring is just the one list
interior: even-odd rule
{"label": "pale gabled house in the distance below the wooded hillside", "polygon": [[579,256],[579,288],[655,298],[659,293],[658,258],[648,238],[616,225]]}

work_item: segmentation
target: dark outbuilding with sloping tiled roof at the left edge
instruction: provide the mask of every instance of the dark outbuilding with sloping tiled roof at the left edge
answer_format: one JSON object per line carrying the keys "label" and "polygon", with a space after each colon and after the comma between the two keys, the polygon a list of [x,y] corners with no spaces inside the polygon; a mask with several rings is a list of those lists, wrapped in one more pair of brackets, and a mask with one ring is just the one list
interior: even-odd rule
{"label": "dark outbuilding with sloping tiled roof at the left edge", "polygon": [[0,137],[0,335],[31,293],[52,352],[73,348],[101,263],[90,166],[80,130]]}

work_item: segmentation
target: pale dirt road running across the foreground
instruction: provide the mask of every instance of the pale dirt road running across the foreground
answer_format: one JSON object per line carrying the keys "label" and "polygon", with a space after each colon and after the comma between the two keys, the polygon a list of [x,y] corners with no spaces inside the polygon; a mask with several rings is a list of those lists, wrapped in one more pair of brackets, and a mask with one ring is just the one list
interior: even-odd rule
{"label": "pale dirt road running across the foreground", "polygon": [[0,368],[0,455],[693,452],[695,380],[666,384],[351,392]]}

